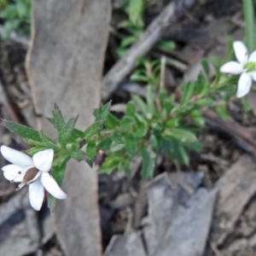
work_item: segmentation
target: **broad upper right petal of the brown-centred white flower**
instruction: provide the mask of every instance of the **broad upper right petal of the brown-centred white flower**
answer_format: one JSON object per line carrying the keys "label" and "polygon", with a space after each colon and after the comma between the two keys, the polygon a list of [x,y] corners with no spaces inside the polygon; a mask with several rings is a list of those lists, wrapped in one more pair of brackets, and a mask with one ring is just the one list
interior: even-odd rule
{"label": "broad upper right petal of the brown-centred white flower", "polygon": [[53,149],[45,149],[33,155],[34,165],[41,172],[49,172],[54,157]]}

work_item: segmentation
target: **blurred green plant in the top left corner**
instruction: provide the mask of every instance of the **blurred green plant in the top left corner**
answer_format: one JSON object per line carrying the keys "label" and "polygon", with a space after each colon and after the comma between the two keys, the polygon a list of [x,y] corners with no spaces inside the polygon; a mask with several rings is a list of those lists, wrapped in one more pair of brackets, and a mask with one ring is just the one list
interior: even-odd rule
{"label": "blurred green plant in the top left corner", "polygon": [[30,0],[0,1],[0,18],[3,19],[2,38],[7,39],[11,32],[30,34]]}

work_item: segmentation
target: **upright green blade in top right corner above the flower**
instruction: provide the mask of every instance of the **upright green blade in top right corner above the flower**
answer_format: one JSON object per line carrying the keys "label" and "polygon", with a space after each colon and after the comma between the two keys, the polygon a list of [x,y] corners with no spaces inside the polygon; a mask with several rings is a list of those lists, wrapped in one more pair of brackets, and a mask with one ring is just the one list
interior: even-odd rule
{"label": "upright green blade in top right corner above the flower", "polygon": [[246,23],[246,44],[249,53],[253,52],[254,45],[254,12],[253,0],[242,0],[243,14]]}

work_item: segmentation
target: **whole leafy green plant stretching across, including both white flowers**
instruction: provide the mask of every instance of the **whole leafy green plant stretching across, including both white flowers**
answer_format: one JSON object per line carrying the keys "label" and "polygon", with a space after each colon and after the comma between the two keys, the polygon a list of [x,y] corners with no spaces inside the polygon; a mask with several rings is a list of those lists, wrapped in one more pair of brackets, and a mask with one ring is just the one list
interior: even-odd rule
{"label": "whole leafy green plant stretching across, including both white flowers", "polygon": [[[247,22],[253,23],[253,15],[250,17]],[[248,42],[252,41],[250,37],[253,37],[252,31],[247,32]],[[226,106],[230,98],[235,93],[237,97],[245,96],[256,81],[256,50],[247,50],[240,41],[229,45],[227,62],[222,65],[221,61],[214,61],[214,76],[210,77],[208,62],[203,60],[203,71],[196,81],[182,84],[175,94],[160,86],[160,61],[140,59],[131,79],[145,85],[146,96],[132,95],[121,119],[109,112],[110,103],[107,103],[95,110],[92,125],[78,130],[75,128],[77,118],[65,121],[61,110],[55,105],[49,122],[57,131],[56,140],[42,131],[3,120],[6,128],[32,146],[26,154],[1,147],[3,157],[14,164],[3,166],[4,177],[20,182],[19,189],[29,185],[30,201],[36,210],[42,206],[46,189],[50,194],[49,207],[53,210],[55,198],[67,198],[60,186],[67,161],[72,158],[85,160],[92,167],[100,167],[99,172],[119,170],[128,174],[131,162],[139,157],[142,159],[140,173],[143,178],[154,176],[159,155],[188,166],[189,151],[201,150],[197,135],[205,125],[204,112],[212,108],[227,119]],[[234,54],[237,61],[232,61]],[[247,108],[245,101],[243,105]],[[102,152],[106,154],[106,159],[99,166],[97,157]]]}

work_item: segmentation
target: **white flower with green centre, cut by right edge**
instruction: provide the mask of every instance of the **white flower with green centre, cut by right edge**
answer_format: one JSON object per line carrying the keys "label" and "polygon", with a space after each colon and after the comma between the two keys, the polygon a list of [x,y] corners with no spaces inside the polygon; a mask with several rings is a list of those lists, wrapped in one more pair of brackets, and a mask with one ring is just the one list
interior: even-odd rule
{"label": "white flower with green centre, cut by right edge", "polygon": [[220,67],[220,71],[230,74],[241,74],[238,80],[236,91],[237,97],[247,95],[250,91],[253,80],[256,81],[256,50],[248,56],[246,46],[240,41],[233,44],[237,61],[229,61]]}

